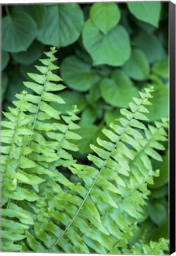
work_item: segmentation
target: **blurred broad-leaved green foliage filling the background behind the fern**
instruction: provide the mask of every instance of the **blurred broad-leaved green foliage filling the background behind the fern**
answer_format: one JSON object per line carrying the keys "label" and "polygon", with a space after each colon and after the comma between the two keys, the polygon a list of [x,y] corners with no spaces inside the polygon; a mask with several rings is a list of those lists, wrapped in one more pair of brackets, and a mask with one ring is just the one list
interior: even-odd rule
{"label": "blurred broad-leaved green foliage filling the background behind the fern", "polygon": [[[74,153],[80,162],[86,163],[90,143],[119,117],[120,108],[128,108],[138,90],[154,86],[149,123],[168,116],[168,3],[11,5],[2,8],[2,17],[3,110],[24,89],[26,73],[33,72],[43,52],[56,46],[58,75],[67,86],[59,94],[67,105],[59,111],[64,114],[76,104],[82,118],[78,133],[83,139]],[[131,244],[168,238],[165,152],[163,162],[153,163],[161,175],[151,185],[145,220]],[[74,175],[66,175],[74,181]]]}

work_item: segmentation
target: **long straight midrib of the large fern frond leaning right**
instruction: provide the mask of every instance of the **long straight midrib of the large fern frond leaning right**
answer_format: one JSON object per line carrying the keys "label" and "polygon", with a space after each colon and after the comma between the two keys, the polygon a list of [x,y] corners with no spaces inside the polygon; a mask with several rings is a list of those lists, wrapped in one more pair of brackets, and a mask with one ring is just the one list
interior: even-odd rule
{"label": "long straight midrib of the large fern frond leaning right", "polygon": [[[144,99],[146,98],[146,95],[147,95],[147,93],[145,93],[144,98],[142,99],[141,104],[138,105],[138,108],[142,105]],[[138,108],[137,108],[136,111],[138,111]],[[135,111],[135,113],[136,113],[136,111]],[[135,113],[132,114],[131,119],[128,121],[128,124],[126,124],[125,130],[124,130],[123,133],[125,133],[126,129],[129,127],[129,124],[131,123],[132,119],[134,118]],[[85,201],[87,200],[87,197],[88,197],[89,194],[91,193],[92,188],[93,188],[94,185],[96,184],[97,179],[99,178],[100,174],[102,173],[103,169],[105,168],[105,165],[106,165],[107,161],[109,160],[109,158],[110,158],[110,156],[112,155],[114,149],[115,149],[116,146],[118,145],[118,143],[119,143],[119,141],[120,141],[120,139],[121,139],[123,133],[119,136],[118,141],[115,143],[115,145],[113,146],[112,150],[109,152],[109,156],[107,156],[107,159],[105,160],[105,162],[104,162],[102,168],[100,169],[99,173],[97,174],[97,177],[95,178],[93,184],[91,185],[89,191],[87,192],[86,197],[85,197],[84,200],[82,201],[82,204],[80,204],[80,207],[79,207],[79,209],[77,210],[76,214],[74,215],[73,219],[71,220],[71,222],[69,223],[69,225],[67,225],[66,229],[65,229],[65,230],[63,231],[63,233],[58,237],[57,241],[52,245],[52,247],[51,247],[50,249],[53,249],[53,247],[55,247],[55,246],[57,245],[57,243],[58,243],[58,242],[60,241],[60,239],[64,236],[64,234],[65,234],[65,233],[67,232],[67,230],[70,228],[71,224],[72,224],[72,223],[74,222],[74,220],[76,219],[76,217],[77,217],[77,215],[79,214],[80,210],[82,209],[82,207],[83,207]],[[49,250],[48,250],[48,251],[49,251]]]}

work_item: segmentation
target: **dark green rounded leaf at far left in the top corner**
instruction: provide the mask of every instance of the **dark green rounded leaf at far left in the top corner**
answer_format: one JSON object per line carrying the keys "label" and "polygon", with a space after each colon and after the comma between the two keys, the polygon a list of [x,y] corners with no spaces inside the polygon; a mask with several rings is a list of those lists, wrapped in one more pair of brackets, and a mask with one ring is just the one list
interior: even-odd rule
{"label": "dark green rounded leaf at far left in the top corner", "polygon": [[2,34],[3,50],[21,52],[27,50],[37,36],[37,25],[27,13],[14,12],[2,19]]}

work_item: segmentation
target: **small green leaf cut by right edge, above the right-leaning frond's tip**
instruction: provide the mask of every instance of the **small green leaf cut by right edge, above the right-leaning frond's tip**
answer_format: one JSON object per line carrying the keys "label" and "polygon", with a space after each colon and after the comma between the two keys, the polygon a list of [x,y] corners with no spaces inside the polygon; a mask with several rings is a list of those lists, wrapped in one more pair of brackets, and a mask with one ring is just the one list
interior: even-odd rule
{"label": "small green leaf cut by right edge, above the right-leaning frond's tip", "polygon": [[161,60],[156,62],[154,66],[152,66],[152,72],[155,74],[162,76],[163,78],[169,78],[169,63],[167,60]]}

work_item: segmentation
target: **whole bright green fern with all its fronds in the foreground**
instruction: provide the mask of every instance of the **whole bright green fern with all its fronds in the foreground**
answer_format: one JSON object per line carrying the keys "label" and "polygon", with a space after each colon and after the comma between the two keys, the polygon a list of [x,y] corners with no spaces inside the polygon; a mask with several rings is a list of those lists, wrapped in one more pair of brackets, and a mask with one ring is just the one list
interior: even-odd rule
{"label": "whole bright green fern with all its fronds in the foreground", "polygon": [[[168,120],[145,125],[152,88],[139,92],[129,110],[122,109],[118,124],[103,129],[105,139],[90,145],[90,165],[76,163],[71,151],[81,139],[77,107],[61,115],[64,89],[52,71],[56,49],[45,53],[40,75],[28,73],[24,82],[34,91],[22,91],[14,108],[4,113],[2,152],[2,251],[163,254],[168,241],[160,239],[141,248],[129,247],[147,203],[147,185],[159,175],[151,159],[162,161],[158,151],[167,140]],[[58,110],[50,102],[58,103]],[[63,168],[79,177],[73,183]]]}

